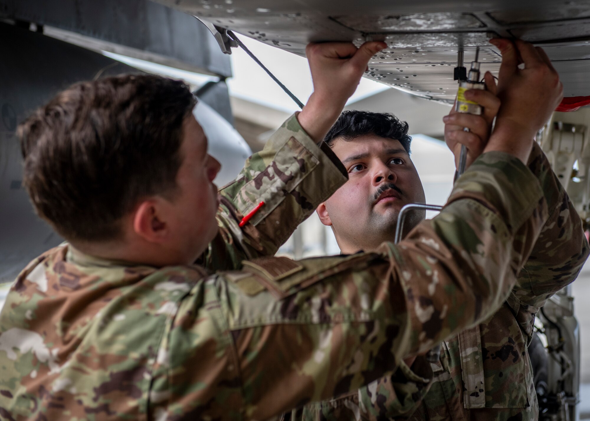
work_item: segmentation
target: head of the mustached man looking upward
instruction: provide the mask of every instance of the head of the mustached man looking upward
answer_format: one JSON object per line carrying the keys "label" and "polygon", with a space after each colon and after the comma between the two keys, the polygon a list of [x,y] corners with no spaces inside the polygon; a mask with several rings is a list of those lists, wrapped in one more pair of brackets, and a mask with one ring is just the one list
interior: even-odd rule
{"label": "head of the mustached man looking upward", "polygon": [[[324,141],[349,169],[349,182],[321,203],[317,213],[332,226],[343,253],[392,241],[399,209],[425,202],[410,159],[411,140],[408,123],[392,114],[368,111],[344,111],[326,135]],[[366,177],[369,167],[377,172],[371,179]],[[396,170],[389,170],[393,167]],[[406,232],[424,216],[423,210],[410,213]]]}

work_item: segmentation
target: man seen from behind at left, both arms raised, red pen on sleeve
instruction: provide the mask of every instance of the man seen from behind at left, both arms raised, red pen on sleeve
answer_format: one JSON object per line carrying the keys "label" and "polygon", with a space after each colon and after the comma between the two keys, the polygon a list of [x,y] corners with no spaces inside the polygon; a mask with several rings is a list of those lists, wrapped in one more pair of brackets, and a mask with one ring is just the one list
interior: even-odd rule
{"label": "man seen from behind at left, both arms raised, red pen on sleeve", "polygon": [[546,219],[523,162],[562,87],[532,47],[501,134],[412,238],[269,257],[345,183],[317,143],[384,47],[310,44],[312,97],[219,196],[181,84],[77,84],[25,121],[25,186],[68,242],[21,272],[0,313],[0,415],[268,419],[357,390],[493,312]]}

